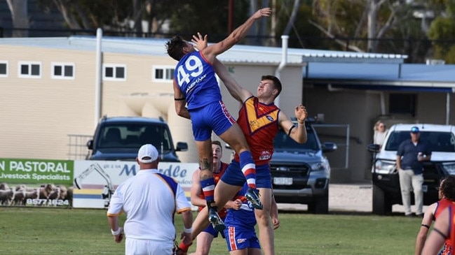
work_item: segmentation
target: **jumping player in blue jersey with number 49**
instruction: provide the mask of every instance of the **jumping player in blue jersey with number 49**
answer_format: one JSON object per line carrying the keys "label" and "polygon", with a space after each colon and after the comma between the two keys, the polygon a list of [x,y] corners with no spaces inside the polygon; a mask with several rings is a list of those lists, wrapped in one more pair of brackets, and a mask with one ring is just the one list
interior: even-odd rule
{"label": "jumping player in blue jersey with number 49", "polygon": [[[169,56],[179,61],[174,73],[175,110],[177,115],[191,119],[193,136],[198,148],[199,165],[201,166],[201,188],[209,210],[208,219],[217,231],[224,230],[225,226],[219,218],[215,206],[215,181],[212,175],[212,131],[224,142],[231,145],[240,156],[240,168],[250,188],[245,197],[256,209],[262,209],[262,203],[256,189],[256,167],[250,148],[240,127],[222,102],[221,91],[215,78],[212,63],[218,54],[229,50],[240,39],[244,38],[255,20],[261,17],[269,17],[270,14],[271,8],[257,10],[223,41],[209,45],[200,51],[196,51],[196,48],[188,41],[184,41],[181,36],[175,36],[165,44]],[[198,36],[201,34],[198,33]]]}

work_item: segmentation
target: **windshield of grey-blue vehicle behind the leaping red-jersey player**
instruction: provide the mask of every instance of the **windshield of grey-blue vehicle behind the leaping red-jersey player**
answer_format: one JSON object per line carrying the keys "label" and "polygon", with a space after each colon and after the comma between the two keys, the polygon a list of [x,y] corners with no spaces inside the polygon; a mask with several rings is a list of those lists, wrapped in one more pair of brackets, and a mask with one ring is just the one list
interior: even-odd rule
{"label": "windshield of grey-blue vehicle behind the leaping red-jersey player", "polygon": [[293,150],[320,150],[318,140],[316,139],[313,129],[306,127],[307,140],[306,143],[297,143],[292,140],[287,133],[280,131],[273,140],[275,149],[293,149]]}

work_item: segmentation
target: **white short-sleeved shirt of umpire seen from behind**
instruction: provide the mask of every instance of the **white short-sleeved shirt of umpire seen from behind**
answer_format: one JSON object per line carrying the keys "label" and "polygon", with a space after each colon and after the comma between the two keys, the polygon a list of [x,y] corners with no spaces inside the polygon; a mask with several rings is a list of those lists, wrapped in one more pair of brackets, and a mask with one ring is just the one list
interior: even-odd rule
{"label": "white short-sleeved shirt of umpire seen from behind", "polygon": [[109,203],[108,216],[126,213],[126,238],[172,241],[174,215],[191,210],[180,185],[156,169],[140,170],[120,184]]}

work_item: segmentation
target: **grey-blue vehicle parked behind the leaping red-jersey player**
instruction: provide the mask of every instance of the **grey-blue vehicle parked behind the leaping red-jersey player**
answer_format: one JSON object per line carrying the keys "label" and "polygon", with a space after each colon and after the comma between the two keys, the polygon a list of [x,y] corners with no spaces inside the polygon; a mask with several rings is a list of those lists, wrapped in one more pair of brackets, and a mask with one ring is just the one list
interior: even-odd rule
{"label": "grey-blue vehicle parked behind the leaping red-jersey player", "polygon": [[334,143],[320,143],[311,122],[306,122],[308,140],[300,144],[280,131],[273,141],[270,161],[273,195],[277,203],[301,203],[308,211],[329,211],[330,164],[325,152],[337,150]]}

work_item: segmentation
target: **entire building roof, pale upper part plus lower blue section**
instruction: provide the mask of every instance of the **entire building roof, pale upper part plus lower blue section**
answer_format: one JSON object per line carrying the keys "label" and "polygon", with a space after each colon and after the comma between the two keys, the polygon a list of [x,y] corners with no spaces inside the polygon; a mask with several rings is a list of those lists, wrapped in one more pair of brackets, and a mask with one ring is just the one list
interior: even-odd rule
{"label": "entire building roof, pale upper part plus lower blue section", "polygon": [[[167,56],[168,38],[102,38],[103,52]],[[67,50],[96,50],[96,36],[0,38],[0,45]],[[226,64],[272,64],[283,59],[283,48],[234,45],[218,57]],[[455,92],[455,65],[404,64],[407,55],[287,49],[287,64],[304,66],[303,78],[315,85],[353,89],[424,89]],[[343,64],[340,64],[343,63]]]}

